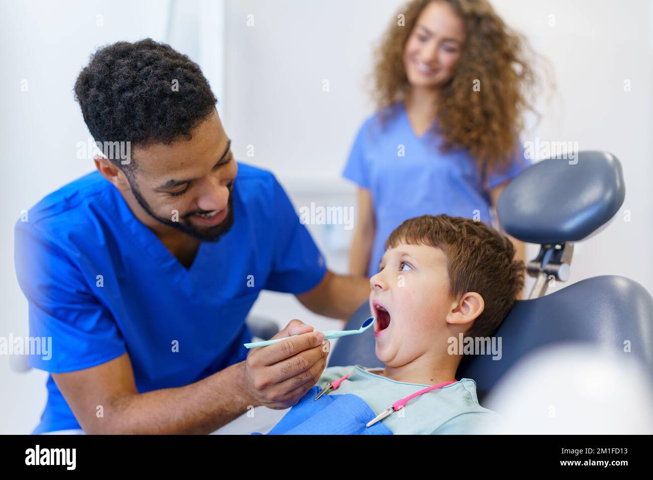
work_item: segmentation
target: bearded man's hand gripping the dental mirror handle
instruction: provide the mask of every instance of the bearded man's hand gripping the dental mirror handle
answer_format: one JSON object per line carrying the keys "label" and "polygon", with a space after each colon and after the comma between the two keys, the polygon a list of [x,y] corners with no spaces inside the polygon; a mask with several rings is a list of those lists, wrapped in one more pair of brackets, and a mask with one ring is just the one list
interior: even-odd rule
{"label": "bearded man's hand gripping the dental mirror handle", "polygon": [[322,332],[291,320],[272,338],[283,342],[253,348],[245,361],[245,382],[256,405],[283,410],[295,405],[319,380],[327,366],[330,342]]}

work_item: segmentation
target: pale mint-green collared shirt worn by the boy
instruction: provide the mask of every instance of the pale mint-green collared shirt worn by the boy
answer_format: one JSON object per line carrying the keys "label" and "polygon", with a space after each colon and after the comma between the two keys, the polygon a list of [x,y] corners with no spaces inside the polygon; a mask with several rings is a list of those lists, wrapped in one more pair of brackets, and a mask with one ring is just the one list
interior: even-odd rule
{"label": "pale mint-green collared shirt worn by the boy", "polygon": [[[397,382],[374,373],[380,370],[383,367],[328,367],[317,385],[322,388],[327,382],[334,382],[349,373],[349,378],[329,395],[357,395],[374,410],[375,415],[397,400],[432,386]],[[486,428],[490,428],[491,432],[492,425],[497,425],[500,420],[498,413],[479,404],[476,382],[462,378],[456,383],[411,399],[405,408],[385,418],[383,424],[395,435],[478,434],[485,432]]]}

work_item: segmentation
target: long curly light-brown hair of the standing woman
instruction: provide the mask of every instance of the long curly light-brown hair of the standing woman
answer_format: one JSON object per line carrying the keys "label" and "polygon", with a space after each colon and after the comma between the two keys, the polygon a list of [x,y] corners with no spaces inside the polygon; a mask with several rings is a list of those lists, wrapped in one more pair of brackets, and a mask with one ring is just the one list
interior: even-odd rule
{"label": "long curly light-brown hair of the standing woman", "polygon": [[[486,0],[414,0],[398,10],[404,25],[396,16],[376,52],[374,97],[384,112],[381,119],[391,112],[386,107],[402,100],[410,89],[404,50],[419,15],[432,1],[450,5],[466,30],[456,72],[434,106],[443,149],[466,148],[477,159],[479,171],[502,171],[510,164],[522,130],[522,112],[532,110],[539,117],[527,95],[539,78],[530,67],[527,53],[534,52],[528,40],[511,31]],[[481,91],[473,91],[475,80],[480,80]]]}

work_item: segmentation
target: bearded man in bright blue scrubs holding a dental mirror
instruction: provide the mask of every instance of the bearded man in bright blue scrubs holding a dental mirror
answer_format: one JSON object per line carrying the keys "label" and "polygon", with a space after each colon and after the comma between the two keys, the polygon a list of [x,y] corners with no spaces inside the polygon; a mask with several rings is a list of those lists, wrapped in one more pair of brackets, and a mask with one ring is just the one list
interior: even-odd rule
{"label": "bearded man in bright blue scrubs holding a dental mirror", "polygon": [[209,433],[251,406],[295,404],[328,344],[292,320],[274,338],[297,337],[246,350],[257,295],[294,293],[345,319],[368,280],[328,271],[274,175],[236,164],[185,55],[118,42],[74,92],[104,157],[15,229],[30,335],[52,337],[49,360],[28,360],[50,372],[34,432]]}

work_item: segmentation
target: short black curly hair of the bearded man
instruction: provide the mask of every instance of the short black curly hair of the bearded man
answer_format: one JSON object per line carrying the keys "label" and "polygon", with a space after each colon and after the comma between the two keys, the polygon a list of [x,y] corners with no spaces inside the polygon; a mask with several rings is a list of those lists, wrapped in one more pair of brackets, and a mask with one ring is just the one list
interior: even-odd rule
{"label": "short black curly hair of the bearded man", "polygon": [[[197,63],[151,38],[99,48],[74,95],[95,142],[132,148],[190,140],[217,102]],[[135,162],[125,166],[133,170]]]}

